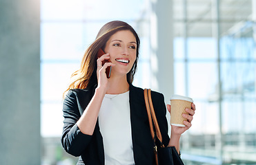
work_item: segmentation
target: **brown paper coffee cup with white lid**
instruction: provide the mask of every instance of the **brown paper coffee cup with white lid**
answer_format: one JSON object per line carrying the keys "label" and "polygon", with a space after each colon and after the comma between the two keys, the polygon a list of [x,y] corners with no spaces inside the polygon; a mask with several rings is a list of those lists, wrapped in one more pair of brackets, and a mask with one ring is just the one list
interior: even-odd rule
{"label": "brown paper coffee cup with white lid", "polygon": [[192,98],[173,95],[170,98],[170,124],[175,126],[185,126],[183,122],[187,121],[187,119],[182,116],[182,113],[188,114],[185,109],[190,109],[192,102]]}

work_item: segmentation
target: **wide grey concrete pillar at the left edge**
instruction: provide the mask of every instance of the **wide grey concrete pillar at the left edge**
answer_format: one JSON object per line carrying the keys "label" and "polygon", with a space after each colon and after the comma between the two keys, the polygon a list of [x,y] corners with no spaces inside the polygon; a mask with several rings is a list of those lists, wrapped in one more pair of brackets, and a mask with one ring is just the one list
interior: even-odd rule
{"label": "wide grey concrete pillar at the left edge", "polygon": [[0,0],[0,164],[41,164],[40,1]]}

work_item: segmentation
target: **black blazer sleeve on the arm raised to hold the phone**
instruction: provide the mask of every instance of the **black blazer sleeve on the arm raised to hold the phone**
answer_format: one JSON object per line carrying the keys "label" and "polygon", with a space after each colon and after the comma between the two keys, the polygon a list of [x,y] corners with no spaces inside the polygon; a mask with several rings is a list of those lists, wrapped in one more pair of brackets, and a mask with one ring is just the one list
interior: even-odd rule
{"label": "black blazer sleeve on the arm raised to hold the phone", "polygon": [[77,96],[74,91],[68,91],[63,100],[63,133],[61,144],[67,153],[79,156],[88,146],[92,135],[81,133],[77,126],[77,120],[81,117],[77,104]]}

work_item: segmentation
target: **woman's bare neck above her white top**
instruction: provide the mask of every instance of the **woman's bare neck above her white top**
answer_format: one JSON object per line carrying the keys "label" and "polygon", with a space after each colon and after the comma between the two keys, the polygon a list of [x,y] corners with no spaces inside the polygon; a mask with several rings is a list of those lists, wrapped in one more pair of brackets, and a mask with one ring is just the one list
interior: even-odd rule
{"label": "woman's bare neck above her white top", "polygon": [[110,88],[107,91],[107,94],[123,94],[126,91],[129,91],[129,83],[125,78],[115,78],[112,77],[110,80]]}

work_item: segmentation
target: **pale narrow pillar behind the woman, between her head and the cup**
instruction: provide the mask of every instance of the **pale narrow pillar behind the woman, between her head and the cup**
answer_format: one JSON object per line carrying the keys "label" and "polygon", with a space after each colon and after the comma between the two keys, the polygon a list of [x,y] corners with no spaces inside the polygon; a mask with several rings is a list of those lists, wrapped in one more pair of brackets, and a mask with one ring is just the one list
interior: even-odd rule
{"label": "pale narrow pillar behind the woman, between her head and the cup", "polygon": [[151,0],[152,89],[173,95],[173,1]]}

